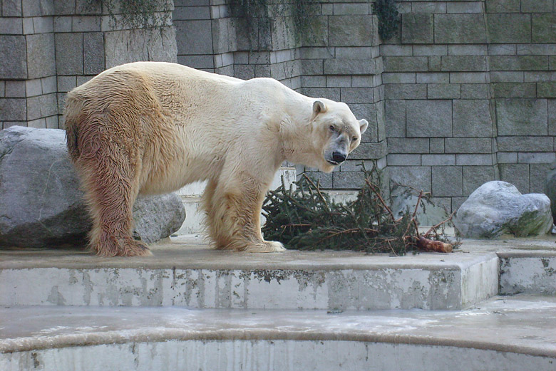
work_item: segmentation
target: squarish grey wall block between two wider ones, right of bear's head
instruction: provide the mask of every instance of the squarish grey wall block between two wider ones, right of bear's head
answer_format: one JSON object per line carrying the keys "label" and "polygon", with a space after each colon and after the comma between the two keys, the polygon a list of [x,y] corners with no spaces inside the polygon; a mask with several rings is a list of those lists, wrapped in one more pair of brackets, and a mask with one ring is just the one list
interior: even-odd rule
{"label": "squarish grey wall block between two wider ones, right of bear's head", "polygon": [[453,135],[455,137],[492,137],[493,122],[488,100],[453,101]]}

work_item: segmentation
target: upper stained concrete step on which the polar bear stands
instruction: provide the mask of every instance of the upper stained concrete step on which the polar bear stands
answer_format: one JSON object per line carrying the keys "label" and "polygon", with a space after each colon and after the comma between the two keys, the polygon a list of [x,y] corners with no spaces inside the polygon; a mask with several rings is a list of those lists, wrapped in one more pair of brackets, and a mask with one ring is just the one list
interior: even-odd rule
{"label": "upper stained concrete step on which the polar bear stands", "polygon": [[179,236],[153,253],[106,259],[83,251],[1,251],[0,305],[459,310],[498,293],[498,256],[490,251],[247,254]]}

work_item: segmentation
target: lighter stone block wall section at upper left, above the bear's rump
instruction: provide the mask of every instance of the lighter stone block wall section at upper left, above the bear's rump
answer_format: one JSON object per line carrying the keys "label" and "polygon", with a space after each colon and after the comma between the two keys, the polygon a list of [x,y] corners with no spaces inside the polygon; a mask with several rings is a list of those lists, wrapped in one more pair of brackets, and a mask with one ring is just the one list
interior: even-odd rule
{"label": "lighter stone block wall section at upper left, above the bear's rump", "polygon": [[171,17],[134,29],[100,1],[0,3],[0,129],[63,127],[65,94],[94,75],[131,61],[176,61]]}

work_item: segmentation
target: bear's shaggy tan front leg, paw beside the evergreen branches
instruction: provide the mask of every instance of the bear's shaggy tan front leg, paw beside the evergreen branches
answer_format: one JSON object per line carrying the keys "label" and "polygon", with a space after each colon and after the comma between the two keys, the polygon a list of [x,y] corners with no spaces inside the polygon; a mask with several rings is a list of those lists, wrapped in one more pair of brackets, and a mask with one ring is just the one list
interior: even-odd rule
{"label": "bear's shaggy tan front leg, paw beside the evergreen branches", "polygon": [[264,241],[261,234],[261,208],[268,184],[240,176],[222,182],[211,194],[207,207],[207,227],[217,249],[271,253],[285,251],[277,241]]}

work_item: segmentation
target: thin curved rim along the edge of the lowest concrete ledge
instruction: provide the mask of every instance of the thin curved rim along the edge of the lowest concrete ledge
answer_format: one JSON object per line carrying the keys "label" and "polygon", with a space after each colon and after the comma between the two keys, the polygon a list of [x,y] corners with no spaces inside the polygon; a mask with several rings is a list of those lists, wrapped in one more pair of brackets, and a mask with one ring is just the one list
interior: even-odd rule
{"label": "thin curved rim along the edge of the lowest concrete ledge", "polygon": [[556,359],[556,350],[492,343],[488,341],[454,340],[451,338],[430,338],[417,335],[381,335],[329,333],[316,331],[312,333],[298,333],[292,331],[259,331],[259,330],[216,330],[216,331],[187,331],[156,329],[143,333],[126,333],[119,331],[108,333],[89,333],[78,335],[58,335],[52,338],[21,338],[19,340],[0,341],[0,354],[29,352],[31,350],[46,350],[51,348],[83,347],[124,343],[164,343],[166,341],[187,340],[292,340],[292,341],[357,341],[365,343],[391,343],[406,345],[430,345],[451,348],[470,348],[509,352],[535,357],[550,357]]}

